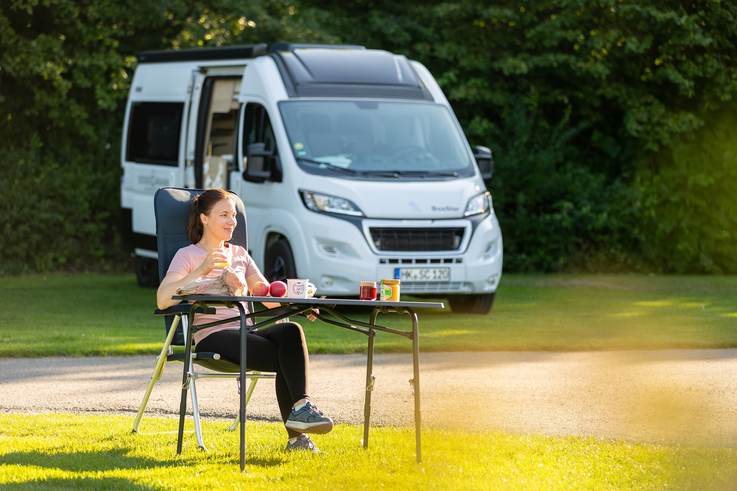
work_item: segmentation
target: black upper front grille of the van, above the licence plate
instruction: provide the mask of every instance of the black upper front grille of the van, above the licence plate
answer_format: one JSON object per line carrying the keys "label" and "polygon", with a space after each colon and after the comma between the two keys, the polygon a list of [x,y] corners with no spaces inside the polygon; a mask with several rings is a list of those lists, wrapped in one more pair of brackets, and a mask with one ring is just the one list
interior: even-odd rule
{"label": "black upper front grille of the van, above the licence plate", "polygon": [[436,251],[458,250],[465,229],[369,227],[368,231],[378,250]]}

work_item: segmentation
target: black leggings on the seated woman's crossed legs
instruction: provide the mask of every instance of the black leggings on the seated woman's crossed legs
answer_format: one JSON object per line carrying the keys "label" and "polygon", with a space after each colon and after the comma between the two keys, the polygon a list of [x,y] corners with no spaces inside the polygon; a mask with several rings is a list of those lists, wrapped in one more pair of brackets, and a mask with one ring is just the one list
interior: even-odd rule
{"label": "black leggings on the seated woman's crossed legs", "polygon": [[[240,364],[240,331],[227,329],[209,334],[198,342],[196,350],[218,353]],[[294,403],[309,397],[307,342],[301,326],[296,322],[279,322],[246,334],[245,361],[248,370],[276,372],[276,400],[286,423]],[[289,428],[287,433],[290,438],[300,435]]]}

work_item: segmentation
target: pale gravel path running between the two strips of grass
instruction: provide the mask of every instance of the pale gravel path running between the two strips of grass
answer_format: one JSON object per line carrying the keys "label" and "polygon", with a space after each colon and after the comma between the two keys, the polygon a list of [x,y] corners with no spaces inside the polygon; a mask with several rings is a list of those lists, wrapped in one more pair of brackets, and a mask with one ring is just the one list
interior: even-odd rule
{"label": "pale gravel path running between the two strips of grass", "polygon": [[[0,359],[0,411],[132,416],[154,358]],[[147,414],[176,414],[181,367],[167,365]],[[411,425],[411,355],[375,356],[374,375],[373,423]],[[423,353],[421,375],[431,427],[737,447],[737,350]],[[310,357],[313,399],[339,423],[363,422],[365,377],[363,355]],[[203,417],[234,417],[235,381],[197,388]],[[273,381],[248,414],[278,420]]]}

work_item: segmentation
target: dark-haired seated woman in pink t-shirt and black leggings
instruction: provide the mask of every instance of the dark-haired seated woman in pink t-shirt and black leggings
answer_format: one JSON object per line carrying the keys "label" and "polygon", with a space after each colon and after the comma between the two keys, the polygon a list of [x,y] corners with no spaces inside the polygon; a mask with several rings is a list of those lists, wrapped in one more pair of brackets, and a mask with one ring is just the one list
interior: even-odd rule
{"label": "dark-haired seated woman in pink t-shirt and black leggings", "polygon": [[[258,281],[268,283],[248,252],[227,244],[237,225],[235,203],[228,191],[208,189],[195,196],[189,205],[187,233],[192,245],[177,251],[167,275],[156,292],[158,308],[178,303],[172,300],[178,288],[202,276],[217,277],[228,262],[244,273],[251,292]],[[265,302],[267,308],[279,303]],[[214,315],[195,314],[195,324],[203,325],[239,315],[237,308],[217,307]],[[308,319],[315,320],[310,314]],[[253,325],[251,319],[248,324]],[[305,433],[324,434],[332,430],[332,419],[310,402],[307,378],[307,344],[296,322],[279,322],[248,333],[246,364],[248,370],[276,372],[276,400],[287,427],[287,450],[320,453]],[[194,333],[195,350],[219,353],[240,364],[240,322],[235,321]]]}

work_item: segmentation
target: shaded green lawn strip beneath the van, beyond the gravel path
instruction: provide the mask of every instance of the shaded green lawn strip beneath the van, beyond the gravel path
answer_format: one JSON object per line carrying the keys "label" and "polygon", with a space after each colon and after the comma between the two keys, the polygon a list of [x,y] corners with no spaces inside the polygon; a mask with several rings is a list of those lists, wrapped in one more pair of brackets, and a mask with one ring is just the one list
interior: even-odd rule
{"label": "shaded green lawn strip beneath the van, beyond the gravel path", "polygon": [[[0,356],[158,353],[155,292],[133,275],[2,279]],[[403,297],[409,298],[409,297]],[[419,309],[422,351],[615,350],[737,347],[737,277],[505,275],[486,316]],[[29,299],[38,300],[31,303]],[[366,319],[360,309],[349,317]],[[407,316],[381,324],[409,329]],[[366,338],[300,320],[311,353],[366,350]],[[377,334],[378,352],[411,350]]]}

